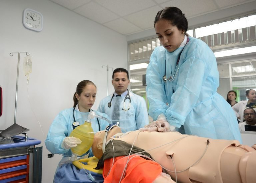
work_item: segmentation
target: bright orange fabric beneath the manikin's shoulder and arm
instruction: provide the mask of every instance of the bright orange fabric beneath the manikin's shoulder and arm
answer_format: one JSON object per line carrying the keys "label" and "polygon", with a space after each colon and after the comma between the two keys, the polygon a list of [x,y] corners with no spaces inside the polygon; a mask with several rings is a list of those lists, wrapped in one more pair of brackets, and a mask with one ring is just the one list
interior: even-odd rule
{"label": "bright orange fabric beneath the manikin's shoulder and arm", "polygon": [[[131,155],[129,159],[131,159],[132,156],[134,155]],[[104,161],[104,183],[116,183],[120,181],[120,177],[127,163],[127,157],[115,157],[114,165],[109,175],[107,175],[112,166],[112,162],[113,158]],[[161,172],[162,168],[158,163],[136,156],[129,161],[125,171],[125,177],[121,182],[153,182]]]}

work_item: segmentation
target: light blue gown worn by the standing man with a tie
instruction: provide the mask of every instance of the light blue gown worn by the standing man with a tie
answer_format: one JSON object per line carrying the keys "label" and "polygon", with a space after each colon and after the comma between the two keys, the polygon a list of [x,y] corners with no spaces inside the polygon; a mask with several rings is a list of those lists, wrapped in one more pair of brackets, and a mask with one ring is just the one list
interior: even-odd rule
{"label": "light blue gown worn by the standing man with a tie", "polygon": [[[124,98],[122,97],[122,101],[119,107],[120,119],[111,119],[113,123],[117,121],[120,122],[119,126],[122,132],[128,132],[133,130],[138,130],[139,128],[144,127],[149,123],[148,121],[148,111],[146,107],[146,102],[144,98],[139,95],[136,95],[129,91],[129,95],[131,98],[131,105],[129,110],[125,111],[124,108]],[[100,101],[98,111],[102,113],[106,113],[109,117],[112,118],[112,113],[114,113],[114,103],[116,97],[113,97],[111,101],[111,107],[108,107],[108,102],[110,102],[113,93]],[[125,100],[125,109],[128,109],[129,99]]]}

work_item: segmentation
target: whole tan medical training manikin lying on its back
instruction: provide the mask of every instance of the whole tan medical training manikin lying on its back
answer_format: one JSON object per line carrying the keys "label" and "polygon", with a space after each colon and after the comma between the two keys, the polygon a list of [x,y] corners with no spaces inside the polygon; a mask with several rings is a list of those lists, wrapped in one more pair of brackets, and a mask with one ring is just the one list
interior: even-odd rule
{"label": "whole tan medical training manikin lying on its back", "polygon": [[[240,145],[237,140],[216,140],[193,135],[181,135],[179,132],[161,133],[139,130],[125,134],[120,132],[119,127],[114,127],[106,136],[105,131],[95,134],[92,150],[97,158],[101,158],[99,163],[104,159],[106,152],[112,152],[113,148],[114,154],[117,154],[118,149],[124,148],[125,150],[125,147],[118,147],[119,145],[115,143],[123,141],[130,144],[132,148],[138,147],[148,152],[151,158],[160,164],[173,180],[177,179],[177,182],[253,183],[256,180],[255,145],[249,147]],[[105,141],[107,145],[103,155],[102,149],[104,149]],[[125,180],[125,176],[129,175],[124,172],[131,172],[129,168],[133,169],[133,167],[129,167],[129,164],[132,163],[132,156],[134,154],[126,157],[130,159],[128,165],[126,165],[127,161],[121,163],[122,169],[120,169],[120,163],[115,166],[119,160],[113,160],[113,157],[110,161],[104,159],[104,182],[108,182],[108,176],[115,176],[119,171],[123,172],[120,175]],[[115,155],[114,159],[117,158]],[[109,165],[106,165],[107,161],[110,163]],[[146,161],[153,162],[151,160]],[[115,168],[111,168],[112,166]],[[144,172],[142,168],[140,169],[140,165],[136,171],[137,173]],[[113,172],[115,173],[113,174]],[[174,182],[169,175],[159,172],[151,182]],[[116,177],[111,177],[112,180],[114,178]],[[121,177],[116,179],[122,180]],[[138,182],[137,179],[133,180],[133,182],[136,181]]]}

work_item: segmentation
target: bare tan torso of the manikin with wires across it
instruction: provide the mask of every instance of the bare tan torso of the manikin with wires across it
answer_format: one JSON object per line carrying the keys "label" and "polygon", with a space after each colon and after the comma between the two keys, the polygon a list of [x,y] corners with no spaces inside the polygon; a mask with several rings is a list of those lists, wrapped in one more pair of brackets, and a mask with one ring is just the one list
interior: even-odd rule
{"label": "bare tan torso of the manikin with wires across it", "polygon": [[[184,170],[177,173],[179,182],[240,183],[243,182],[240,175],[245,178],[249,173],[242,169],[239,174],[239,161],[247,151],[236,147],[240,145],[237,140],[209,139],[207,147],[208,138],[181,135],[179,132],[159,133],[139,130],[111,139],[134,143],[135,146],[149,152],[161,166],[171,171],[175,170],[173,160],[177,172]],[[255,156],[256,151],[253,157]],[[167,172],[175,178],[175,173],[171,171]]]}

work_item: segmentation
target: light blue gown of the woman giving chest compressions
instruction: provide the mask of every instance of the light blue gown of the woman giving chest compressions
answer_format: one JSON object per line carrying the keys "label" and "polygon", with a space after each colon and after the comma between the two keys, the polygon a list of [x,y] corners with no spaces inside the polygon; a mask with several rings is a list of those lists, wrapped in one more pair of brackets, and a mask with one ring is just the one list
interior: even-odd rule
{"label": "light blue gown of the woman giving chest compressions", "polygon": [[[164,75],[174,80],[164,82]],[[216,58],[203,41],[189,37],[187,45],[174,52],[156,47],[147,67],[146,83],[149,115],[154,120],[164,114],[170,125],[184,125],[186,134],[242,143],[236,115],[217,93]]]}

